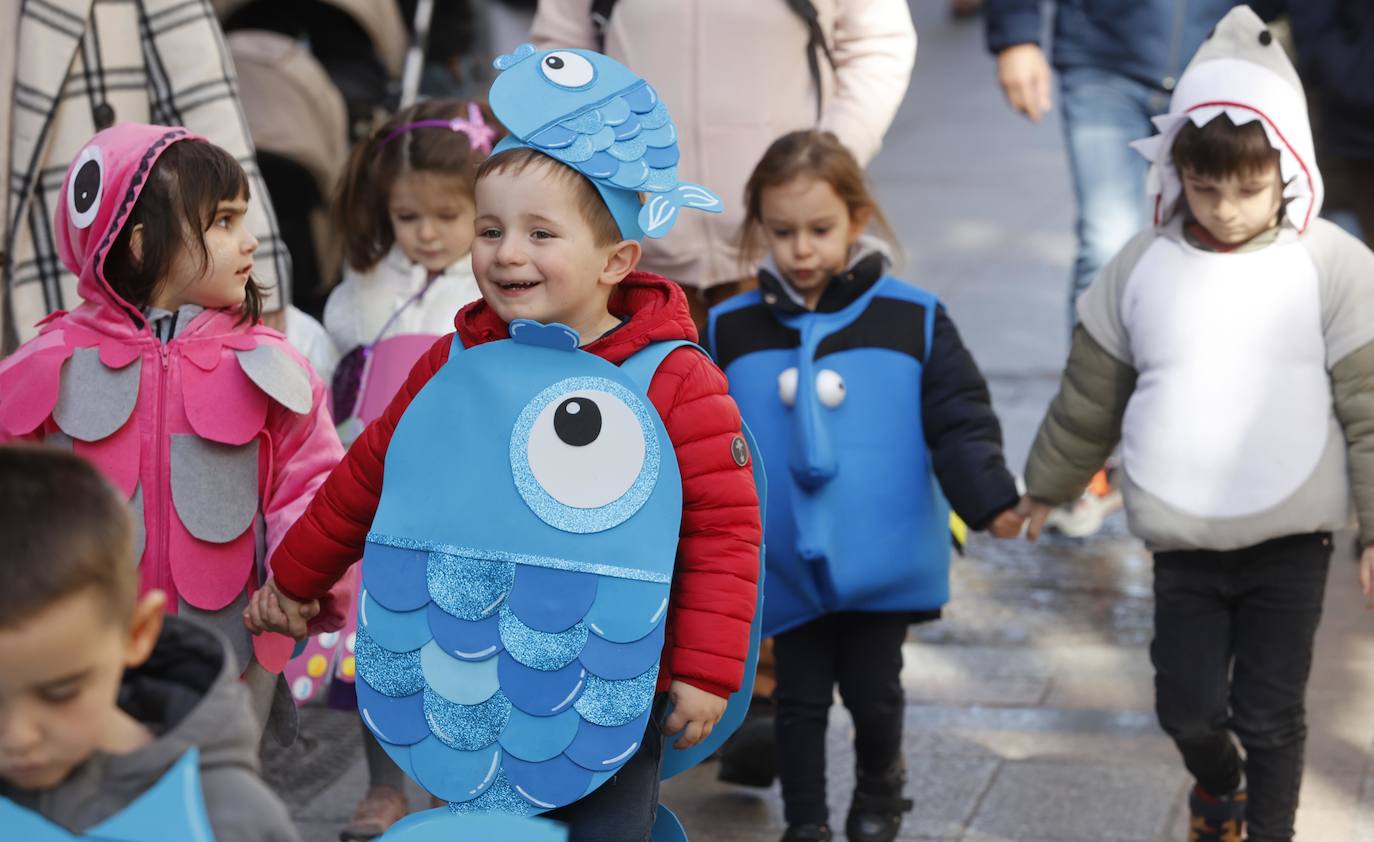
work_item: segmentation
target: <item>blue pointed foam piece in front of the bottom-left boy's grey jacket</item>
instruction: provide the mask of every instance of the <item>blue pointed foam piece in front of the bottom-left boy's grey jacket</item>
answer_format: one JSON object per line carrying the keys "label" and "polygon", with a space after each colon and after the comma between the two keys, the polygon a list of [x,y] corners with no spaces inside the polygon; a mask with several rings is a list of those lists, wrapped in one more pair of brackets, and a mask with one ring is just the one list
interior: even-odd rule
{"label": "blue pointed foam piece in front of the bottom-left boy's grey jacket", "polygon": [[71,834],[8,798],[0,798],[0,838],[23,842],[214,842],[201,791],[201,751],[191,749],[153,787],[84,834]]}

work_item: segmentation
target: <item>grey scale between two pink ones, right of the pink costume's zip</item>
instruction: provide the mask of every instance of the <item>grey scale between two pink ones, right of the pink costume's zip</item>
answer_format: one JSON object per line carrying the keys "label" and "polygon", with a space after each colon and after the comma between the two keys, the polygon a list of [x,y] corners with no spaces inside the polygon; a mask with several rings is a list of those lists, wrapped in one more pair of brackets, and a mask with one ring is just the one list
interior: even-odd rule
{"label": "grey scale between two pink ones, right of the pink costume's zip", "polygon": [[172,437],[172,503],[181,525],[212,544],[243,534],[258,510],[258,442],[223,445]]}

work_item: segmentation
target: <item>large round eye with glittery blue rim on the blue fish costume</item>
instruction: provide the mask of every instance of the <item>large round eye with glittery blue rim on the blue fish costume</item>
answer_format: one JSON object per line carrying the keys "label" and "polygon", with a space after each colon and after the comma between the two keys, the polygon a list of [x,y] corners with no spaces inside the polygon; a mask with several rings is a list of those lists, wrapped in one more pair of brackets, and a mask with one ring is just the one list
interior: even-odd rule
{"label": "large round eye with glittery blue rim on the blue fish costume", "polygon": [[633,515],[658,479],[658,434],[643,400],[603,378],[570,378],[525,405],[511,471],[555,529],[603,532]]}

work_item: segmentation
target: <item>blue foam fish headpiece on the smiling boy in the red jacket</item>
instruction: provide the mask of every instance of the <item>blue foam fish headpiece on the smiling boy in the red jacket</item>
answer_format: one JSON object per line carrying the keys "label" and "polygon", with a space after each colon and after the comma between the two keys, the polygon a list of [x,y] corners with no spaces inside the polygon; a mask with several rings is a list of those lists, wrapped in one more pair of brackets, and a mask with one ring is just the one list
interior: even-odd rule
{"label": "blue foam fish headpiece on the smiling boy in the red jacket", "polygon": [[683,207],[724,210],[712,191],[677,180],[668,107],[620,62],[589,49],[539,52],[521,44],[493,65],[502,73],[491,106],[510,132],[495,151],[529,147],[585,176],[625,239],[664,236]]}

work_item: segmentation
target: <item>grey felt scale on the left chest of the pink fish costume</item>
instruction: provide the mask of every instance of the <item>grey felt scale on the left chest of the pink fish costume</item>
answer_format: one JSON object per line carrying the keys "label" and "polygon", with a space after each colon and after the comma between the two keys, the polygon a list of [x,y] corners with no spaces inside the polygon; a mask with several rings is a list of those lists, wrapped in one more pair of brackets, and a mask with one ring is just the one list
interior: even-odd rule
{"label": "grey felt scale on the left chest of the pink fish costume", "polygon": [[107,368],[100,349],[78,348],[62,364],[62,383],[52,420],[71,438],[100,441],[114,434],[139,402],[139,372],[135,359],[124,368]]}

